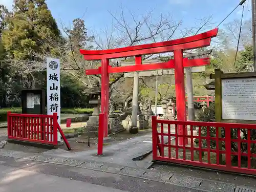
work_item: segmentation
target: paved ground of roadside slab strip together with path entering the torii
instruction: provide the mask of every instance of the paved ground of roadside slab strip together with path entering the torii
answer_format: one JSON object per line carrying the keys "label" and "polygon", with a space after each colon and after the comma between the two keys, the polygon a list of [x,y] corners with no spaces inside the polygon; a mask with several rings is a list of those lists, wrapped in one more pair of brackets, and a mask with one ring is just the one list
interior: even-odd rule
{"label": "paved ground of roadside slab strip together with path entering the torii", "polygon": [[[167,137],[164,138],[164,142],[166,141]],[[97,170],[105,173],[141,178],[145,181],[158,181],[188,187],[189,190],[231,192],[237,190],[237,187],[240,187],[236,183],[230,183],[229,181],[221,182],[216,181],[214,178],[205,179],[206,177],[203,176],[195,177],[192,174],[184,175],[182,173],[176,173],[175,168],[174,172],[159,170],[152,166],[151,159],[148,158],[142,161],[133,160],[140,159],[140,157],[149,154],[151,151],[152,137],[151,134],[147,134],[104,146],[104,155],[102,156],[96,155],[97,150],[74,153],[57,149],[42,153],[26,153],[2,149],[0,150],[0,157],[65,165],[86,170]]]}

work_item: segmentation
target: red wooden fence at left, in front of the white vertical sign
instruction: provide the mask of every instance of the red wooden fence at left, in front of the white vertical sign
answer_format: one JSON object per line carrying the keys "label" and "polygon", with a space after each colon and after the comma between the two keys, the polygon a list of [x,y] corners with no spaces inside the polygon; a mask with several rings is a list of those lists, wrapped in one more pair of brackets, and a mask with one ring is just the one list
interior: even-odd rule
{"label": "red wooden fence at left, in front of the white vertical sign", "polygon": [[57,113],[53,115],[8,112],[8,139],[57,145]]}

